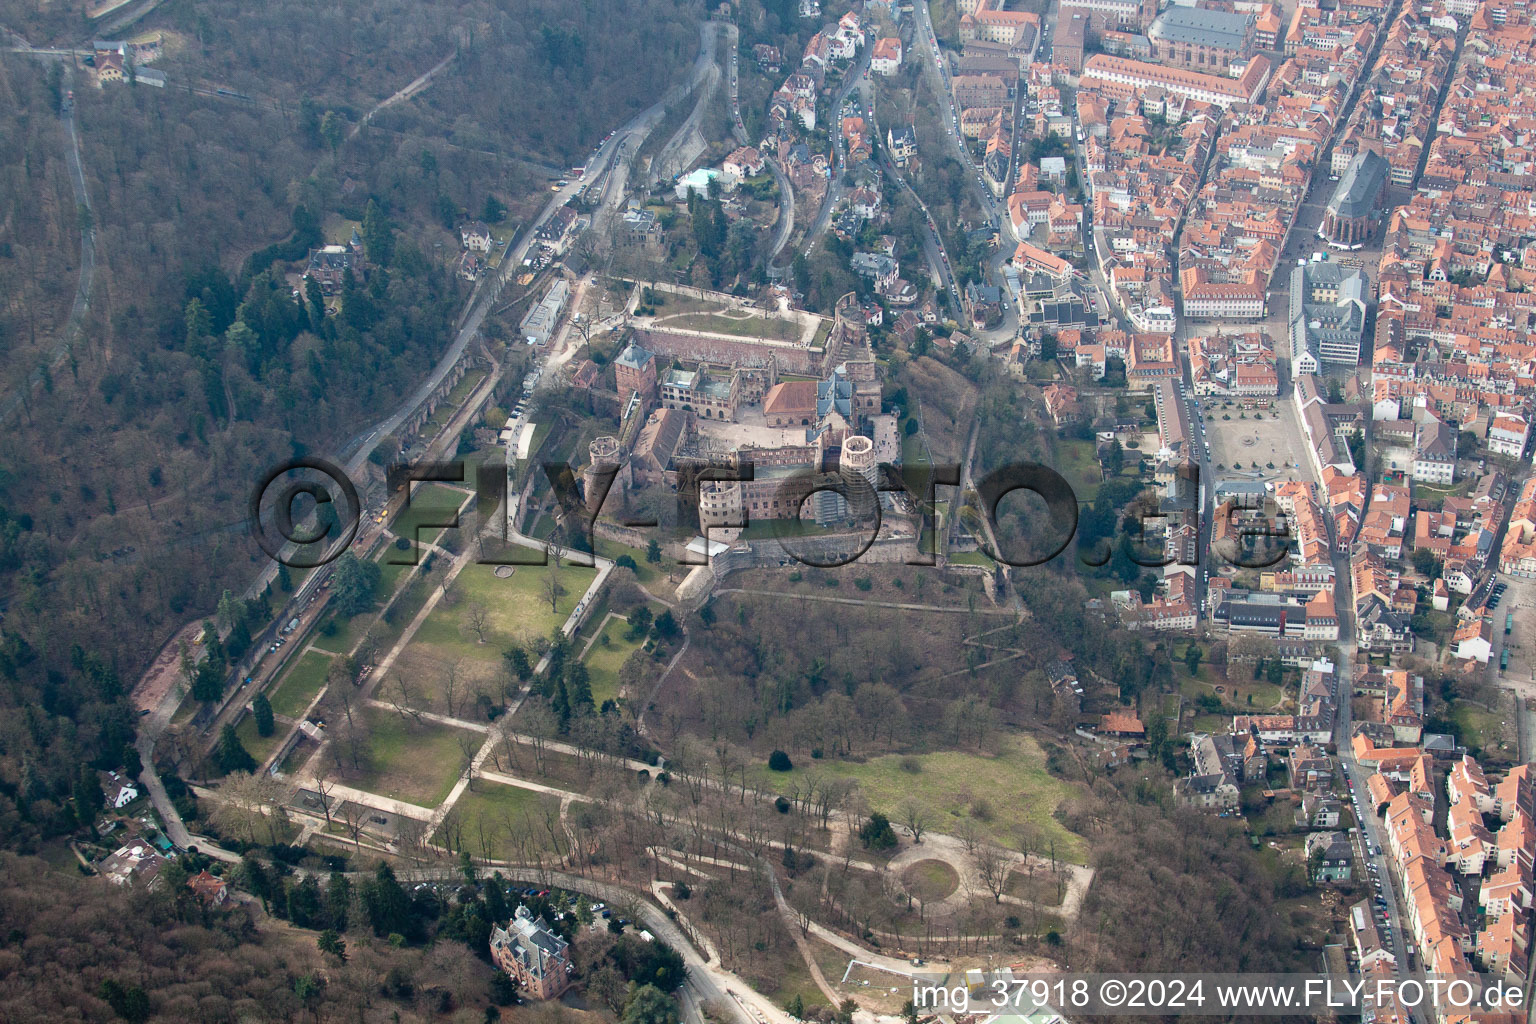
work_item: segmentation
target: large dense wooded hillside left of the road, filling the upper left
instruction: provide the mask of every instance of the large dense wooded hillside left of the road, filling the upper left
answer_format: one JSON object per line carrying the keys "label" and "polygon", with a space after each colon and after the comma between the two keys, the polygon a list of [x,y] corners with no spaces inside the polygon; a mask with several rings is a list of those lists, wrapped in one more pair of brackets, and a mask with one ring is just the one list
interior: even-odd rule
{"label": "large dense wooded hillside left of the road, filling the upper left", "polygon": [[[510,236],[547,201],[538,161],[578,160],[685,74],[699,14],[170,2],[135,25],[166,32],[161,89],[0,55],[5,843],[68,831],[78,766],[123,765],[147,659],[260,567],[243,525],[260,476],[335,451],[438,359],[468,287],[447,267],[458,224],[505,210]],[[5,28],[91,38],[80,15],[22,6]],[[66,348],[86,226],[95,273]],[[356,272],[304,287],[309,250],[353,230]]]}

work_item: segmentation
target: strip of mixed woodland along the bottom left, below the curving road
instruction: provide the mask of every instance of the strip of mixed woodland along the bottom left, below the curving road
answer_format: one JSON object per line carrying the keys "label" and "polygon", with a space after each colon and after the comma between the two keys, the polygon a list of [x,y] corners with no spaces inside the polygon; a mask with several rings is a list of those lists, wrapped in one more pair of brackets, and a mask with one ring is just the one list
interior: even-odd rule
{"label": "strip of mixed woodland along the bottom left, below the curving road", "polygon": [[[516,906],[499,875],[407,887],[386,866],[298,877],[247,857],[233,875],[260,901],[214,907],[184,886],[187,870],[170,863],[161,875],[174,884],[118,889],[0,854],[0,1019],[584,1018],[559,1003],[515,1006],[516,986],[490,963],[492,923]],[[567,940],[593,920],[584,900],[564,918],[527,903]],[[637,992],[665,1007],[685,976],[676,950],[637,935],[585,930],[574,950],[587,992],[630,1024],[656,1019],[631,1010]]]}

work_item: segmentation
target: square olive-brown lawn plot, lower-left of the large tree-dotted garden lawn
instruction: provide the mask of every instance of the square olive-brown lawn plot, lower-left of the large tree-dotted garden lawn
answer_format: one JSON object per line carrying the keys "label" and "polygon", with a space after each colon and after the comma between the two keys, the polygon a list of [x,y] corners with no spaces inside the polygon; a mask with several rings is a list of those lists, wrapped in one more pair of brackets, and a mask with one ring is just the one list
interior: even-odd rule
{"label": "square olive-brown lawn plot, lower-left of the large tree-dotted garden lawn", "polygon": [[407,723],[382,708],[362,714],[369,729],[366,769],[347,785],[422,808],[436,808],[458,781],[465,761],[459,737],[472,738],[475,746],[482,740],[478,732],[435,722]]}

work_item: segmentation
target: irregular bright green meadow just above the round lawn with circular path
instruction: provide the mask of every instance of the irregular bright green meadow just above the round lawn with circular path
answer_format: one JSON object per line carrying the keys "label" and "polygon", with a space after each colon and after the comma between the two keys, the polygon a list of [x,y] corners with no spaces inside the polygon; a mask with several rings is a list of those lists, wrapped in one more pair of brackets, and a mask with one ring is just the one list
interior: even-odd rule
{"label": "irregular bright green meadow just above the round lawn with circular path", "polygon": [[1072,788],[1046,771],[1044,751],[1034,738],[1017,735],[1008,743],[1008,749],[997,757],[960,751],[917,754],[911,757],[919,766],[915,772],[902,766],[909,758],[899,754],[876,757],[862,765],[803,758],[790,772],[771,772],[760,765],[756,783],[783,792],[806,774],[843,775],[859,783],[872,809],[894,815],[911,800],[928,812],[929,827],[946,834],[957,829],[969,808],[985,800],[989,815],[977,820],[982,832],[1017,847],[1017,829],[1028,824],[1034,827],[1043,849],[1054,838],[1057,857],[1081,864],[1087,855],[1087,843],[1052,817]]}

